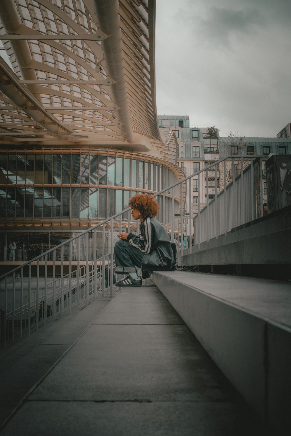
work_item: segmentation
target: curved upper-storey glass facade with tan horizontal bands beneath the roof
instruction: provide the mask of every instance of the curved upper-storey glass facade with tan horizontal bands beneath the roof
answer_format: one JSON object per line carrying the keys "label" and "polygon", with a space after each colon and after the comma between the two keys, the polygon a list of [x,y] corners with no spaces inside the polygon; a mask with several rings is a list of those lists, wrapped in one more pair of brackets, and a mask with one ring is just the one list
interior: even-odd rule
{"label": "curved upper-storey glass facade with tan horizontal bands beneath the roof", "polygon": [[144,159],[82,152],[0,154],[3,218],[104,219],[126,208],[136,192],[157,192],[173,183],[169,168]]}

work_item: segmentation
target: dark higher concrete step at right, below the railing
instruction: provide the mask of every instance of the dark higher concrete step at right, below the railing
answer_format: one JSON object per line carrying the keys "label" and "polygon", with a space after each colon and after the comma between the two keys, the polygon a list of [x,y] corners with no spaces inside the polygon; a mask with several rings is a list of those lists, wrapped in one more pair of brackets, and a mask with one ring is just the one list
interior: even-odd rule
{"label": "dark higher concrete step at right, below the railing", "polygon": [[185,250],[178,265],[291,265],[284,249],[291,240],[291,207],[277,211],[233,232]]}

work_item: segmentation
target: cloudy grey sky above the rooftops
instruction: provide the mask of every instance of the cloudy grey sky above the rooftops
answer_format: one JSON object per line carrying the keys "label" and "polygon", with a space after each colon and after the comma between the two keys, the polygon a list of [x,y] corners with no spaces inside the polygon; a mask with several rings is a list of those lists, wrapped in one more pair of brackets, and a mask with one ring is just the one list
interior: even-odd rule
{"label": "cloudy grey sky above the rooftops", "polygon": [[291,122],[290,0],[157,0],[158,115],[220,136],[275,137]]}

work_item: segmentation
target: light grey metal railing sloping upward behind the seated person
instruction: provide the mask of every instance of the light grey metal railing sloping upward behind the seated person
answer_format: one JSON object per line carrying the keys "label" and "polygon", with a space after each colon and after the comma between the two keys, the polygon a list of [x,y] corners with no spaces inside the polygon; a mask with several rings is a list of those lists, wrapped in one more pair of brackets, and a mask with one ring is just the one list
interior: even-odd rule
{"label": "light grey metal railing sloping upward behind the seated person", "polygon": [[[193,244],[200,246],[260,216],[262,185],[262,157],[227,157],[154,194],[157,219],[181,256],[185,249],[191,252]],[[131,221],[130,208],[124,209],[1,276],[0,344],[14,342],[98,297],[112,297],[117,292],[116,234],[135,229],[138,232],[139,222]],[[97,254],[100,246],[102,255]]]}

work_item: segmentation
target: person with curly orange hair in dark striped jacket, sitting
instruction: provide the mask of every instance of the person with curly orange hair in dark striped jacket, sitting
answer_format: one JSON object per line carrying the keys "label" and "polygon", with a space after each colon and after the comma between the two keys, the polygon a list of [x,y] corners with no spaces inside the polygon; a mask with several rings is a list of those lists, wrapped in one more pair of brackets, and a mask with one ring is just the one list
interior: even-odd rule
{"label": "person with curly orange hair in dark striped jacket, sitting", "polygon": [[131,232],[118,235],[120,241],[114,247],[115,272],[129,275],[116,282],[115,286],[141,286],[136,267],[141,268],[143,279],[149,277],[152,271],[175,269],[176,255],[168,233],[155,218],[159,209],[157,202],[151,195],[136,194],[130,198],[129,205],[133,218],[141,221],[142,238]]}

